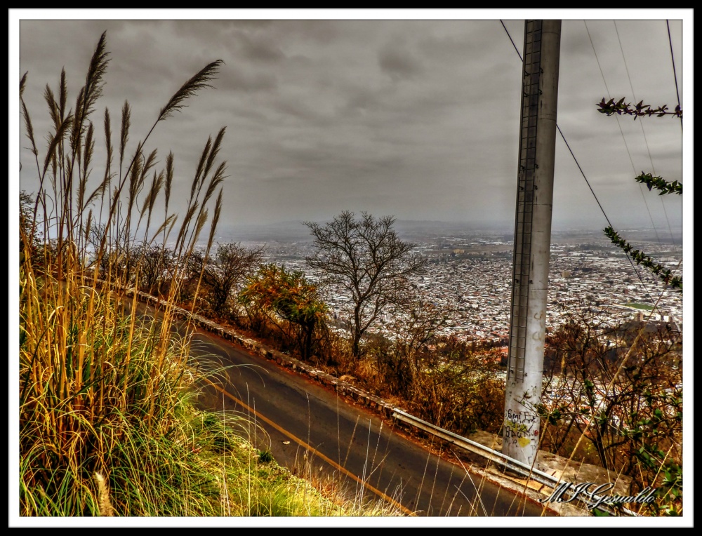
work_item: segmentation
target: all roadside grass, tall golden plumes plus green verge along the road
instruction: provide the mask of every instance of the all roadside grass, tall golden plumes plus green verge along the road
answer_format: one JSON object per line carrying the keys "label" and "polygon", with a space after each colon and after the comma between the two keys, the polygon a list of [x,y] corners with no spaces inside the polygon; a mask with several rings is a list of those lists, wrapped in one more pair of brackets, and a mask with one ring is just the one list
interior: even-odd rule
{"label": "all roadside grass, tall golden plumes plus green verge along the road", "polygon": [[[46,86],[53,130],[43,148],[22,99],[27,74],[20,82],[38,180],[37,192],[20,199],[20,515],[343,513],[324,501],[299,504],[303,484],[274,464],[261,467],[237,418],[191,403],[201,369],[190,362],[190,337],[173,334],[173,307],[206,225],[205,255],[213,243],[225,129],[201,152],[182,217],[171,210],[174,156],[159,170],[147,141],[187,99],[211,87],[222,62],[173,93],[132,149],[131,107],[121,109],[114,145],[105,109],[104,173],[93,184],[100,130],[94,112],[108,63],[102,34],[72,108],[65,72],[58,96]],[[164,206],[162,215],[156,206]],[[148,321],[135,314],[137,294],[127,290],[140,281],[145,252],[166,241],[175,243],[176,273],[158,320]]]}

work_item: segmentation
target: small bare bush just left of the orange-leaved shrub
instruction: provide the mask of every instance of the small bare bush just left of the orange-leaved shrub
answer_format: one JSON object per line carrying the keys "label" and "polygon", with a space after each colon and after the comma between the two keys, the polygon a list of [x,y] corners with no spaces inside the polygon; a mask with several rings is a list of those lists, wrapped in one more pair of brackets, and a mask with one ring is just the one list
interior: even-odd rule
{"label": "small bare bush just left of the orange-leaved shrub", "polygon": [[227,311],[227,304],[237,286],[244,282],[261,262],[263,248],[251,249],[239,243],[218,244],[211,258],[194,251],[190,257],[192,274],[202,277],[210,307],[217,314]]}

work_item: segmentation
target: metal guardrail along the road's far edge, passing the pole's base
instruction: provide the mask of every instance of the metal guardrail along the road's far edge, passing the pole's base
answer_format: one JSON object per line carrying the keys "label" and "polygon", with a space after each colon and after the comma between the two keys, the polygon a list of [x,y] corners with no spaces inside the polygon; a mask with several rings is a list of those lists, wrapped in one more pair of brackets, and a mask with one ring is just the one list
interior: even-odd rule
{"label": "metal guardrail along the road's far edge, passing the pole's base", "polygon": [[[558,487],[559,484],[564,483],[564,481],[560,480],[559,478],[555,478],[555,476],[552,476],[538,469],[534,469],[530,465],[525,464],[524,462],[520,462],[519,460],[515,460],[514,458],[509,457],[507,455],[504,455],[498,450],[491,449],[489,447],[486,447],[485,445],[482,445],[481,443],[477,443],[476,441],[472,441],[463,436],[459,436],[458,434],[454,434],[452,431],[439,428],[434,424],[431,424],[430,422],[421,420],[420,418],[415,417],[414,415],[410,415],[409,413],[406,413],[397,408],[392,410],[392,416],[395,417],[397,420],[405,422],[406,424],[411,424],[412,426],[418,429],[427,431],[430,434],[442,438],[444,439],[444,441],[448,441],[449,443],[453,443],[454,445],[464,448],[465,450],[482,456],[487,460],[490,460],[491,462],[505,467],[505,469],[510,469],[510,471],[515,471],[516,473],[526,476],[527,478],[530,478],[531,480],[534,480],[540,484],[547,485],[549,488],[552,488],[554,490]],[[572,493],[570,490],[566,490],[564,492],[564,495],[567,495],[569,497],[573,497],[574,495],[576,495],[576,499],[578,501],[582,502],[585,505],[588,504],[588,502],[581,498],[578,493]],[[588,497],[590,497],[590,495],[588,495]],[[590,498],[594,502],[597,502],[602,497],[600,497],[599,495],[592,495],[592,497]],[[597,509],[606,511],[607,514],[610,514],[612,516],[626,514],[627,516],[640,517],[640,514],[637,514],[635,511],[631,511],[624,507],[621,507],[620,510],[614,510],[613,508],[609,507],[609,505],[604,503],[600,504],[597,507]]]}

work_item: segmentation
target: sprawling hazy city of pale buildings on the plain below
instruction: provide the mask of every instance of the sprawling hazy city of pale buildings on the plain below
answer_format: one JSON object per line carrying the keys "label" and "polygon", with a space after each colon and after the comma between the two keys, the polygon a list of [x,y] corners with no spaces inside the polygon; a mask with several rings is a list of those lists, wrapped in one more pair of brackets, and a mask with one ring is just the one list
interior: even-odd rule
{"label": "sprawling hazy city of pale buildings on the plain below", "polygon": [[[445,333],[461,340],[506,344],[509,334],[512,293],[513,235],[506,229],[469,230],[440,222],[397,222],[399,236],[416,244],[418,255],[430,260],[428,272],[411,281],[439,308],[454,311]],[[319,274],[305,264],[314,249],[307,227],[289,225],[224,230],[218,241],[239,241],[244,246],[265,246],[266,262],[284,264],[305,272],[318,281]],[[625,229],[622,234],[636,248],[656,262],[682,276],[680,230],[667,236],[658,230]],[[557,328],[569,311],[614,309],[629,316],[641,316],[656,305],[652,319],[673,323],[682,330],[682,294],[663,289],[663,283],[647,270],[636,270],[624,253],[600,232],[555,232],[550,250],[547,330]],[[324,299],[332,314],[343,319],[348,297],[328,291]],[[620,315],[618,315],[620,316]],[[388,332],[392,321],[385,314],[375,330]]]}

